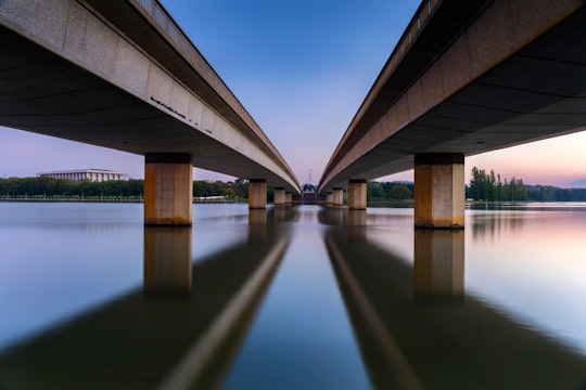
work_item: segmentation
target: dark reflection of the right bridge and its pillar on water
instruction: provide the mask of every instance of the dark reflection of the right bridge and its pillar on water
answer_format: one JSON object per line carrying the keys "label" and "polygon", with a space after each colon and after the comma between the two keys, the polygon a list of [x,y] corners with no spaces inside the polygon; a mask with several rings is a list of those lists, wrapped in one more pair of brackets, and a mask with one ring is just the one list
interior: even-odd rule
{"label": "dark reflection of the right bridge and its pillar on water", "polygon": [[[330,220],[331,221],[331,220]],[[400,258],[332,226],[328,253],[378,389],[577,389],[579,354],[464,291],[464,232],[417,230]],[[349,226],[353,236],[368,226]]]}

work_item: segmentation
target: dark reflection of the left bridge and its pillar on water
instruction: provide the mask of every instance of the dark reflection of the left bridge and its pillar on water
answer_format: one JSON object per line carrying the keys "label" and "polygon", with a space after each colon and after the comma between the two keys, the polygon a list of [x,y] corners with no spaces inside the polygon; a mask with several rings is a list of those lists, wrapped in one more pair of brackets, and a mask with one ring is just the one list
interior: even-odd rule
{"label": "dark reflection of the left bridge and its pillar on water", "polygon": [[290,243],[289,230],[260,220],[249,239],[193,264],[191,227],[145,227],[142,288],[13,346],[0,387],[219,387]]}

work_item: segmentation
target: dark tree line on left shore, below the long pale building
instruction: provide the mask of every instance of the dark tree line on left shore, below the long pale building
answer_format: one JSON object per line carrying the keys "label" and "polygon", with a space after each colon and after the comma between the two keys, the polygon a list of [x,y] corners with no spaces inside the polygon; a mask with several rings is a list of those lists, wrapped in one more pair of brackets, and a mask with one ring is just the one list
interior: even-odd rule
{"label": "dark tree line on left shore, below the long pale building", "polygon": [[[141,199],[144,180],[110,180],[91,182],[68,179],[8,178],[0,179],[0,198],[104,198],[120,197]],[[230,182],[193,181],[194,197],[226,196],[231,198],[249,196],[249,181],[237,179]]]}

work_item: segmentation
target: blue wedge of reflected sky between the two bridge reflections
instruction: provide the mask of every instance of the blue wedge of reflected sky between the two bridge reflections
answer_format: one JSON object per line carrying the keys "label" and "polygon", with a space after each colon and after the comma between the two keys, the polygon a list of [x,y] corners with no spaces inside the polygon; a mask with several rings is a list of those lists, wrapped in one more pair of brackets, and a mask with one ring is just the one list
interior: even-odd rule
{"label": "blue wedge of reflected sky between the two bridge reflections", "polygon": [[[308,210],[308,211],[307,211]],[[364,369],[317,223],[298,224],[226,389],[367,389]]]}

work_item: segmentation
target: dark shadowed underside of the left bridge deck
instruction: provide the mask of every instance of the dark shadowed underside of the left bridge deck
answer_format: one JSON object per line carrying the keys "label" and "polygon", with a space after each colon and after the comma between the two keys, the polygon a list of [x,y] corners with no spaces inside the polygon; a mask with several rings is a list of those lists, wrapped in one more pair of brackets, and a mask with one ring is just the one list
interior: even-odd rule
{"label": "dark shadowed underside of the left bridge deck", "polygon": [[143,100],[0,26],[0,125],[138,155],[180,153],[193,166],[239,178],[276,173]]}

